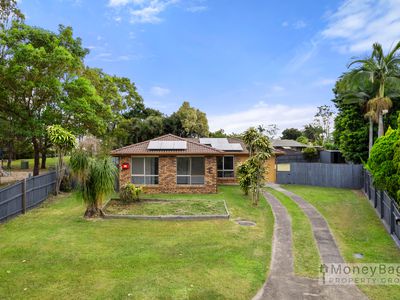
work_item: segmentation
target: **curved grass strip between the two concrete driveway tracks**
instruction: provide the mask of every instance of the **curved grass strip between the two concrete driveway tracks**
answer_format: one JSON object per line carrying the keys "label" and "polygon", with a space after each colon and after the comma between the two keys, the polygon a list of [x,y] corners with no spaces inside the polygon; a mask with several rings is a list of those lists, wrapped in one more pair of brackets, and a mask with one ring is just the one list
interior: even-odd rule
{"label": "curved grass strip between the two concrete driveway tracks", "polygon": [[292,219],[295,274],[318,278],[321,260],[308,217],[297,203],[292,201],[285,194],[272,188],[267,188],[267,191],[274,195],[286,207]]}

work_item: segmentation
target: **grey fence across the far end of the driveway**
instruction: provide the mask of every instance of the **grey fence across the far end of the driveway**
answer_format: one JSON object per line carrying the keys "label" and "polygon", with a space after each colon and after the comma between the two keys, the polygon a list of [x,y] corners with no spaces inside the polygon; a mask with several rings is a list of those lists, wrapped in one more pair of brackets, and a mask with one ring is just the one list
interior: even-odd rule
{"label": "grey fence across the far end of the driveway", "polygon": [[276,179],[280,184],[361,189],[364,183],[362,165],[292,162],[288,170],[279,169],[278,164]]}

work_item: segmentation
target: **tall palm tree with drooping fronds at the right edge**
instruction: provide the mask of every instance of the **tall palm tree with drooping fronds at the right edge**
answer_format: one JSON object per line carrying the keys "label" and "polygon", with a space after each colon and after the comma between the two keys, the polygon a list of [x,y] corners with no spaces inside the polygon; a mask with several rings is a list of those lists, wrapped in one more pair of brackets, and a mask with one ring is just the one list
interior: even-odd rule
{"label": "tall palm tree with drooping fronds at the right edge", "polygon": [[[391,97],[385,95],[385,85],[389,81],[400,80],[400,42],[387,54],[383,53],[382,45],[374,43],[372,54],[366,59],[357,59],[349,64],[354,74],[365,74],[369,80],[378,87],[376,95],[368,100],[367,111],[370,120],[378,121],[378,137],[384,134],[383,115],[392,107]],[[371,121],[370,121],[371,124]],[[370,125],[371,126],[371,125]]]}

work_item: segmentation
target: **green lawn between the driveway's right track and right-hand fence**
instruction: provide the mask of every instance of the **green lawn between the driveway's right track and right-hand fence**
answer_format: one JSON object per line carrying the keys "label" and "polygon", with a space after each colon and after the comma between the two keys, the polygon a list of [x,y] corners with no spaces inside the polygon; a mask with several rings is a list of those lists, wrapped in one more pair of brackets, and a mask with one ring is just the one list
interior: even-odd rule
{"label": "green lawn between the driveway's right track and right-hand fence", "polygon": [[[325,217],[349,263],[399,263],[400,250],[359,191],[286,185]],[[362,253],[363,259],[354,258]],[[399,286],[360,285],[370,299],[400,299]]]}

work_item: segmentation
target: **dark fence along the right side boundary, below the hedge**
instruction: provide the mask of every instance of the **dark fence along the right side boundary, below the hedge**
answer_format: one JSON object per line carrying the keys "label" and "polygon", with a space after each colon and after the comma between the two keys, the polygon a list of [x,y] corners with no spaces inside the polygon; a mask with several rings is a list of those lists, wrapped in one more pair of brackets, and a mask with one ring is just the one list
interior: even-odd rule
{"label": "dark fence along the right side boundary, below the hedge", "polygon": [[397,245],[400,246],[400,209],[385,191],[376,189],[371,174],[364,171],[363,190],[371,205],[382,220],[386,230],[392,235]]}

